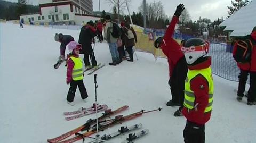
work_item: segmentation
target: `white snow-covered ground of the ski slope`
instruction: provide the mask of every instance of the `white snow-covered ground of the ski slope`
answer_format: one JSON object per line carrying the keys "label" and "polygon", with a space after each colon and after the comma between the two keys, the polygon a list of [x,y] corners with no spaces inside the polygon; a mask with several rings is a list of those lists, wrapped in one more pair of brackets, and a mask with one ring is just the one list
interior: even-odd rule
{"label": "white snow-covered ground of the ski slope", "polygon": [[[0,142],[46,142],[46,139],[95,118],[94,114],[73,121],[64,119],[62,113],[65,111],[91,106],[95,92],[93,75],[85,75],[88,102],[82,101],[77,90],[75,106],[66,103],[69,88],[66,67],[63,64],[53,69],[60,45],[53,37],[60,32],[78,40],[79,30],[19,28],[19,25],[0,23]],[[171,98],[166,59],[154,61],[151,54],[137,52],[138,61],[109,66],[111,56],[106,43],[96,44],[95,55],[98,62],[106,63],[95,72],[100,104],[107,104],[113,110],[129,105],[129,109],[121,113],[123,115],[163,107],[162,111],[144,114],[122,124],[142,123],[143,129],[149,129],[147,136],[135,142],[183,142],[186,119],[173,116],[178,107],[165,105]],[[213,111],[205,126],[205,142],[255,142],[256,106],[247,106],[246,98],[242,103],[236,101],[237,82],[214,76],[214,85]],[[111,133],[120,127],[116,125],[100,134]],[[121,142],[126,136],[110,141]],[[91,140],[86,139],[87,142]]]}

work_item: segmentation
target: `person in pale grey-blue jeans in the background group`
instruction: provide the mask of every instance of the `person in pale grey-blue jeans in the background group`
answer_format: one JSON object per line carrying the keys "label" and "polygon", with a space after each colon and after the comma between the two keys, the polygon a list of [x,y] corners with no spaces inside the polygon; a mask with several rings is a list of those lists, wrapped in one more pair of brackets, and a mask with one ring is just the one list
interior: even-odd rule
{"label": "person in pale grey-blue jeans in the background group", "polygon": [[[104,37],[108,43],[109,46],[109,51],[112,57],[112,62],[109,63],[109,65],[117,65],[120,63],[119,60],[119,53],[117,49],[117,39],[113,37],[113,25],[114,22],[111,22],[110,15],[106,15],[106,26],[105,26],[105,31],[104,31]],[[115,23],[116,24],[116,23]]]}

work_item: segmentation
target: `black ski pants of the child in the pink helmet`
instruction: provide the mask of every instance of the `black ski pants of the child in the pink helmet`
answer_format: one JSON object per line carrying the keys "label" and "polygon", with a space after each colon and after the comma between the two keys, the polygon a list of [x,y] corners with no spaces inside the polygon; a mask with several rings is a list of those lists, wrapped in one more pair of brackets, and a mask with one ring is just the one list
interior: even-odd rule
{"label": "black ski pants of the child in the pink helmet", "polygon": [[72,80],[69,83],[69,85],[70,85],[70,88],[68,90],[68,95],[67,95],[67,101],[68,102],[73,102],[73,100],[75,98],[75,92],[76,92],[76,87],[77,86],[79,88],[82,99],[85,99],[85,98],[88,97],[86,88],[84,87],[83,80],[77,80],[77,81]]}

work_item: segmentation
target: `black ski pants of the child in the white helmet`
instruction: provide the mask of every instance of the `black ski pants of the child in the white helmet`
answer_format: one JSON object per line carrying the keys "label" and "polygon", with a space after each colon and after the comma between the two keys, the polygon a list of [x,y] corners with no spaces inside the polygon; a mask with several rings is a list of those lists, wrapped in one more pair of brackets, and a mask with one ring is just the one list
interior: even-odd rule
{"label": "black ski pants of the child in the white helmet", "polygon": [[185,143],[204,143],[204,125],[198,125],[187,120],[186,126],[183,130],[183,137]]}

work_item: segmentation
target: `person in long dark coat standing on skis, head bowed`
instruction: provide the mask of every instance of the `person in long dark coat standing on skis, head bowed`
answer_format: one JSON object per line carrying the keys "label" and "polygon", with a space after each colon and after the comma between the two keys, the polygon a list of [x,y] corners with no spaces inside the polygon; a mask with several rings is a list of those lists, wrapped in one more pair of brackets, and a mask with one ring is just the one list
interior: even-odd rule
{"label": "person in long dark coat standing on skis, head bowed", "polygon": [[84,64],[85,68],[91,68],[89,61],[89,56],[91,58],[92,66],[97,66],[97,61],[95,60],[95,54],[92,49],[92,39],[96,36],[96,29],[89,24],[86,24],[81,28],[78,43],[82,45],[81,54],[84,54]]}

